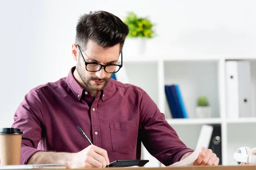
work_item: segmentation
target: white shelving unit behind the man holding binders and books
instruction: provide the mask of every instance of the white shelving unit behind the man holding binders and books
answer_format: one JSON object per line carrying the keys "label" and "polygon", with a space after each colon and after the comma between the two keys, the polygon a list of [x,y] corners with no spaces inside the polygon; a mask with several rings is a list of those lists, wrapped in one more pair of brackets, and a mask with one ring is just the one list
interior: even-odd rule
{"label": "white shelving unit behind the man holding binders and books", "polygon": [[[126,73],[131,84],[143,88],[165,113],[167,122],[177,131],[180,139],[195,149],[201,126],[221,125],[222,165],[234,165],[233,153],[241,146],[256,147],[256,136],[250,135],[256,129],[256,117],[226,118],[225,61],[226,59],[248,59],[251,62],[252,88],[256,88],[256,57],[225,56],[136,56],[123,57]],[[172,119],[166,100],[164,85],[180,85],[180,91],[188,119]],[[255,91],[255,90],[254,90]],[[196,99],[207,96],[212,107],[211,118],[198,119],[195,116]],[[252,93],[252,95],[256,95]],[[254,101],[252,102],[254,103]],[[252,109],[254,112],[255,109]],[[143,153],[145,155],[145,153]],[[162,166],[151,158],[149,167]]]}

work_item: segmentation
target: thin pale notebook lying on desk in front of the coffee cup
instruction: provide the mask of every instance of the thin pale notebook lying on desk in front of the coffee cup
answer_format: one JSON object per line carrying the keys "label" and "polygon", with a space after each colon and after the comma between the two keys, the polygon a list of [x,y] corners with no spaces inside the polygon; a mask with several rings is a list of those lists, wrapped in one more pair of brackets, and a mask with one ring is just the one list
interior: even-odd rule
{"label": "thin pale notebook lying on desk in front of the coffee cup", "polygon": [[24,164],[24,165],[0,165],[0,170],[17,169],[65,169],[65,164]]}

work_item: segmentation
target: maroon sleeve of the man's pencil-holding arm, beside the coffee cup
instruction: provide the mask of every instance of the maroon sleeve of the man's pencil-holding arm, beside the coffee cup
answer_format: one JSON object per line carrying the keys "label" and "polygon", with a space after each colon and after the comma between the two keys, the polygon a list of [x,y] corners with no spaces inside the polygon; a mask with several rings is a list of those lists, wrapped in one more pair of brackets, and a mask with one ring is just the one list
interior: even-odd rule
{"label": "maroon sleeve of the man's pencil-holding arm, beside the coffee cup", "polygon": [[44,104],[35,89],[29,91],[14,114],[13,128],[22,132],[20,164],[26,164],[32,154],[39,151],[44,118]]}

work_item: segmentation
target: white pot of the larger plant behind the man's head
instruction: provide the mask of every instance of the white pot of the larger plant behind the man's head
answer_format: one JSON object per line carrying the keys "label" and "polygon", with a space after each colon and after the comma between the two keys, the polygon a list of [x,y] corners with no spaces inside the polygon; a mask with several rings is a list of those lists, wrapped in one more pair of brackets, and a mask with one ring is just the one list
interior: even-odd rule
{"label": "white pot of the larger plant behind the man's head", "polygon": [[131,57],[142,56],[145,54],[147,38],[127,38],[123,47],[124,55]]}

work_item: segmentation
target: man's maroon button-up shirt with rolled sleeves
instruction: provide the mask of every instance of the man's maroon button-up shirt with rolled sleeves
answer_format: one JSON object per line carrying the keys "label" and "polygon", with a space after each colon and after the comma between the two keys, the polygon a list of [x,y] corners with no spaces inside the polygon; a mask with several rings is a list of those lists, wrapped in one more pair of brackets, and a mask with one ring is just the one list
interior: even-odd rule
{"label": "man's maroon button-up shirt with rolled sleeves", "polygon": [[39,151],[79,152],[90,141],[107,150],[110,162],[140,159],[141,142],[161,163],[170,165],[193,151],[180,141],[164,114],[143,91],[111,79],[93,99],[73,77],[33,88],[14,115],[23,131],[20,164]]}

